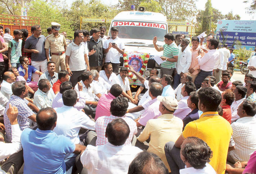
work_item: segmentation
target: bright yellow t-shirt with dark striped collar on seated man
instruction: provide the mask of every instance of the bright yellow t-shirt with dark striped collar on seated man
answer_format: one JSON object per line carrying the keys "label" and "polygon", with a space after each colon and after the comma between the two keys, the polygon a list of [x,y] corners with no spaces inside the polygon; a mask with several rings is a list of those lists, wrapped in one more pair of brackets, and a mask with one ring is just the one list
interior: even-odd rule
{"label": "bright yellow t-shirt with dark striped collar on seated man", "polygon": [[230,123],[218,112],[205,112],[198,120],[186,125],[182,136],[196,136],[205,141],[212,150],[211,166],[217,174],[224,174],[231,135],[233,134]]}

